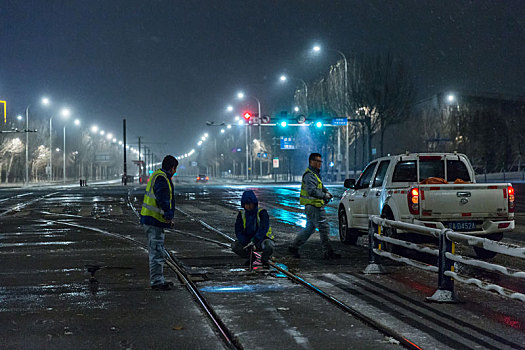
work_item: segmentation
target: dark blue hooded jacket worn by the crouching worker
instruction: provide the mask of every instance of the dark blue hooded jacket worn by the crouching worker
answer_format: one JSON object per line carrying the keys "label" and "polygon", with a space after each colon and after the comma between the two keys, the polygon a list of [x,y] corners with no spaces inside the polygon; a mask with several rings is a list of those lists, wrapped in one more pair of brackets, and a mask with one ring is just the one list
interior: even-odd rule
{"label": "dark blue hooded jacket worn by the crouching worker", "polygon": [[246,229],[242,222],[242,214],[237,214],[237,220],[235,221],[235,235],[242,246],[247,245],[250,241],[255,244],[260,243],[266,238],[266,233],[270,228],[270,217],[266,209],[261,210],[259,213],[259,225],[257,224],[257,212],[259,211],[259,201],[253,191],[244,191],[241,198],[241,206],[244,208],[244,204],[254,203],[255,209],[245,210],[246,213]]}

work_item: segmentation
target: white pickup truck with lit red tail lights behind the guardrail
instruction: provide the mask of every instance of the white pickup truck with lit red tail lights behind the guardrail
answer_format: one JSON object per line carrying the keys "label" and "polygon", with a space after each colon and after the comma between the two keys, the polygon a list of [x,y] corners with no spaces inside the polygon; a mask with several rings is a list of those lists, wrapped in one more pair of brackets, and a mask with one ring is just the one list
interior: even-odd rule
{"label": "white pickup truck with lit red tail lights behind the guardrail", "polygon": [[[356,180],[347,179],[339,204],[339,236],[355,244],[368,230],[370,215],[501,240],[514,229],[510,183],[477,184],[464,154],[407,153],[374,160]],[[385,235],[409,232],[384,230]],[[387,247],[389,249],[389,247]],[[392,249],[392,247],[390,247]],[[495,254],[474,247],[476,254]]]}

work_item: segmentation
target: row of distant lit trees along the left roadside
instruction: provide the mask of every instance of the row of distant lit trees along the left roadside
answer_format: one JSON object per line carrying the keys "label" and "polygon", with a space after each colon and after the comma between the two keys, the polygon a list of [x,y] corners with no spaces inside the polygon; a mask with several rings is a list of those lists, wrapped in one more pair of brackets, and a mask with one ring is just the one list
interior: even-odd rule
{"label": "row of distant lit trees along the left roadside", "polygon": [[[53,179],[63,178],[62,127],[53,128],[52,150],[49,147],[49,120],[31,115],[28,134],[29,181],[47,181],[50,152],[53,152]],[[10,122],[0,126],[0,183],[25,180],[25,123]],[[57,148],[59,149],[57,151]],[[100,178],[114,175],[122,167],[121,147],[87,130],[68,127],[66,135],[66,177]],[[100,158],[100,155],[104,157]]]}

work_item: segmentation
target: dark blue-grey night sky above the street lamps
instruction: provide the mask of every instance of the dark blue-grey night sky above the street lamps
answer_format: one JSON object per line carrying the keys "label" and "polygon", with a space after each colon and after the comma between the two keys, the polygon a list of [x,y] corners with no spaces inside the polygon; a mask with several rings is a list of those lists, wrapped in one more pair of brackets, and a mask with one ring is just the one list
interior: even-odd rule
{"label": "dark blue-grey night sky above the street lamps", "polygon": [[263,114],[290,109],[295,86],[279,74],[308,81],[338,59],[311,56],[314,43],[403,57],[418,98],[525,95],[521,0],[0,0],[0,100],[14,118],[46,95],[119,134],[125,117],[130,138],[177,155],[195,148],[205,121],[232,120],[225,107],[239,90]]}

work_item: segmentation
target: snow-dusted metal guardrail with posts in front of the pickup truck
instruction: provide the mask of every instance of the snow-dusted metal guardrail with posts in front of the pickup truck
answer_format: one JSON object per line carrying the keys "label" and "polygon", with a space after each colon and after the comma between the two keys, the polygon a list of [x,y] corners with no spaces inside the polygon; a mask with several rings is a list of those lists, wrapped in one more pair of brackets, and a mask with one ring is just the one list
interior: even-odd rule
{"label": "snow-dusted metal guardrail with posts in front of the pickup truck", "polygon": [[[430,234],[439,239],[439,249],[432,249],[426,246],[403,241],[400,239],[385,237],[381,234],[382,227],[391,227],[410,232]],[[416,250],[418,252],[437,256],[438,266],[424,264],[413,259],[401,257],[397,254],[381,250],[380,242],[386,242],[400,247]],[[497,292],[508,298],[517,299],[522,302],[525,302],[525,294],[508,290],[497,284],[487,283],[477,278],[459,275],[454,270],[454,263],[457,262],[464,265],[485,269],[487,271],[497,272],[511,278],[525,280],[524,271],[516,271],[505,266],[492,264],[486,261],[472,259],[454,254],[456,243],[466,243],[468,245],[481,247],[483,249],[496,252],[498,254],[505,254],[523,259],[525,258],[525,247],[492,241],[486,238],[469,236],[462,233],[454,232],[450,229],[440,230],[400,221],[387,220],[376,215],[371,216],[369,220],[368,243],[369,263],[363,271],[364,273],[385,273],[385,270],[380,263],[380,257],[389,258],[391,260],[402,262],[407,265],[426,271],[437,272],[438,289],[434,292],[432,296],[427,297],[427,301],[438,303],[457,302],[457,298],[454,293],[454,280],[456,280],[458,282],[475,285],[487,291]]]}

